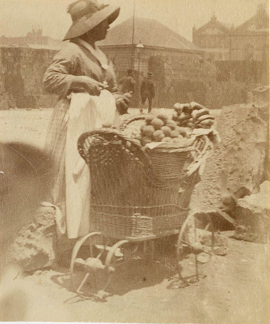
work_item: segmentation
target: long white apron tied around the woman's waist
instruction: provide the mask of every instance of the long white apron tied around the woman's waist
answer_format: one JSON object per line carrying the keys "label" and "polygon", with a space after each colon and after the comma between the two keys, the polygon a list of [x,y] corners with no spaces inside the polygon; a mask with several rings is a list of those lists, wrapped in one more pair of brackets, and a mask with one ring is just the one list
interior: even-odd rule
{"label": "long white apron tied around the woman's waist", "polygon": [[68,238],[86,235],[90,231],[90,177],[89,169],[77,149],[81,134],[102,127],[118,126],[119,113],[115,98],[108,90],[100,96],[72,93],[65,144],[66,230]]}

